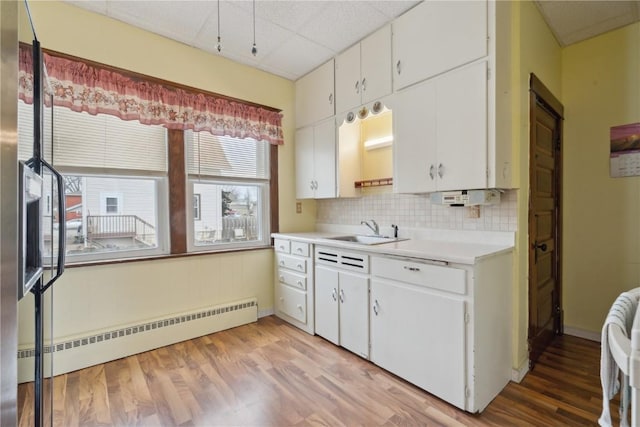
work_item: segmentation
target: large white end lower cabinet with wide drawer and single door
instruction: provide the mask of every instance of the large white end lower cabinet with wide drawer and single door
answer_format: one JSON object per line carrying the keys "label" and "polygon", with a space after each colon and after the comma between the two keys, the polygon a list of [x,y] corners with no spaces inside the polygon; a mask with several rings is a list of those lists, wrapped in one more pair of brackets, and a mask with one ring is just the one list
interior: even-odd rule
{"label": "large white end lower cabinet with wide drawer and single door", "polygon": [[371,361],[482,411],[511,376],[510,275],[510,253],[473,265],[372,256]]}

